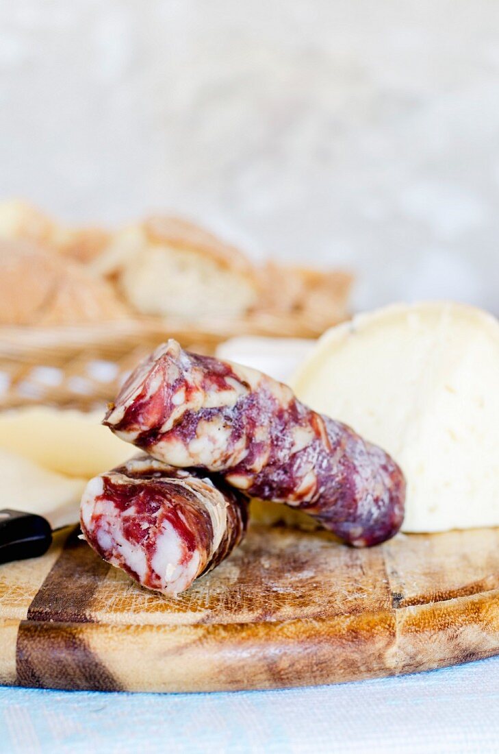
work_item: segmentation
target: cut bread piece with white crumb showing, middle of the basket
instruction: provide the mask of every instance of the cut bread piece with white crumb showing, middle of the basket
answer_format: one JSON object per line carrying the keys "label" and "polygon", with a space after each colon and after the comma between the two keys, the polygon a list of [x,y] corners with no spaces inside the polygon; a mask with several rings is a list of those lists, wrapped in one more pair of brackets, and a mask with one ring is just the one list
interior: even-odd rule
{"label": "cut bread piece with white crumb showing, middle of the basket", "polygon": [[151,217],[118,232],[91,266],[115,277],[141,314],[242,317],[259,295],[254,268],[238,250],[172,217]]}

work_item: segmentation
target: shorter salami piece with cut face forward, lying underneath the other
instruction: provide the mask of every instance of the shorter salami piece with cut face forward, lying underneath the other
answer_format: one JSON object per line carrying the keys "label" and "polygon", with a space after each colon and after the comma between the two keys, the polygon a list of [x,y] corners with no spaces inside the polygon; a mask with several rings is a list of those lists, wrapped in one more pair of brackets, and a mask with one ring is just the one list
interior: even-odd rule
{"label": "shorter salami piece with cut face forward, lying underneath the other", "polygon": [[132,458],[87,485],[81,529],[99,555],[148,589],[175,596],[245,534],[248,502],[224,482]]}

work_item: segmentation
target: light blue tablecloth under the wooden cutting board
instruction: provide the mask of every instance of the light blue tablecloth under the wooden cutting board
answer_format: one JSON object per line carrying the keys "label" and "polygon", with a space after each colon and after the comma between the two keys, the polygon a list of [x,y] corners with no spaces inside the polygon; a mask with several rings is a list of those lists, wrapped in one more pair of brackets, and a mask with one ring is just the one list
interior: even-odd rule
{"label": "light blue tablecloth under the wooden cutting board", "polygon": [[0,688],[0,752],[499,752],[499,657],[284,691]]}

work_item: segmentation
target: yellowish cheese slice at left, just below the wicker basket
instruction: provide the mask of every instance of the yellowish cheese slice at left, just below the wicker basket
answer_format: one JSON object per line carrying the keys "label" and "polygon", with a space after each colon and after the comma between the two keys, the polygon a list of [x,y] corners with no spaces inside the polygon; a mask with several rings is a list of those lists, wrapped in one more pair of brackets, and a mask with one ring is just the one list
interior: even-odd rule
{"label": "yellowish cheese slice at left, just below the wicker basket", "polygon": [[96,477],[136,450],[102,427],[104,412],[26,406],[0,413],[0,448],[68,477]]}

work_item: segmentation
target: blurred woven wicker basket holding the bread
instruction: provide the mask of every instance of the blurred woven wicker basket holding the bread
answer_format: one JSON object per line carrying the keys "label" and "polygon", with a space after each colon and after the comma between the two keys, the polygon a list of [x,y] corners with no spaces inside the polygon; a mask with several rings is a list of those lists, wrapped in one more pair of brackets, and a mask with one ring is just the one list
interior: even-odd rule
{"label": "blurred woven wicker basket holding the bread", "polygon": [[92,409],[111,400],[138,361],[173,337],[184,348],[212,354],[232,336],[314,337],[314,323],[259,317],[203,326],[134,319],[99,326],[1,327],[0,409],[33,403]]}

